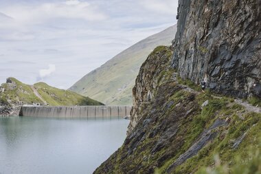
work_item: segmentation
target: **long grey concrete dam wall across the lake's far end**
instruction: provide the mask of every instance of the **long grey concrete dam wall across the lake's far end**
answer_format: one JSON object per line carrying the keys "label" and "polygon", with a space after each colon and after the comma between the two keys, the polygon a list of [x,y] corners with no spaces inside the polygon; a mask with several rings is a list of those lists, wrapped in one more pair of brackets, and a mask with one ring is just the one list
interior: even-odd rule
{"label": "long grey concrete dam wall across the lake's far end", "polygon": [[23,106],[19,116],[50,118],[124,118],[130,116],[131,106]]}

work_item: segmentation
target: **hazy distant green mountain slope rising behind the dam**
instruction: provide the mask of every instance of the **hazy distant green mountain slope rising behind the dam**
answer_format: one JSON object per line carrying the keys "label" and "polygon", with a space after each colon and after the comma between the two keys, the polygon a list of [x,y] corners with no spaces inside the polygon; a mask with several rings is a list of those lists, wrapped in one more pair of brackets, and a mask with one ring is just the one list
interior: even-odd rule
{"label": "hazy distant green mountain slope rising behind the dam", "polygon": [[132,89],[139,67],[158,45],[171,45],[176,25],[149,36],[90,72],[69,90],[106,105],[132,105]]}

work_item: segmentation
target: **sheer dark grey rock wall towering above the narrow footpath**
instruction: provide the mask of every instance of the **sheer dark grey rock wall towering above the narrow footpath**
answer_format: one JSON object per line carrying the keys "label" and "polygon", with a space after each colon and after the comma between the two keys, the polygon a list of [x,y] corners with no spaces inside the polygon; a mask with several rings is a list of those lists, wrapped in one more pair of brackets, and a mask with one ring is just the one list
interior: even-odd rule
{"label": "sheer dark grey rock wall towering above the narrow footpath", "polygon": [[260,0],[179,0],[177,17],[172,65],[182,78],[240,98],[258,90]]}

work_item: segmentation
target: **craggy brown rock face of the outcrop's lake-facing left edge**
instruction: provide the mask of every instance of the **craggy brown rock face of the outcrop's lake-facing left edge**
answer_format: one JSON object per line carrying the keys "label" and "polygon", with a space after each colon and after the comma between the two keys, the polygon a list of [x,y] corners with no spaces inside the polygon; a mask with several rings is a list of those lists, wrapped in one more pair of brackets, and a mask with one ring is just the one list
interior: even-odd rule
{"label": "craggy brown rock face of the outcrop's lake-facing left edge", "polygon": [[131,123],[128,126],[128,133],[131,133],[141,118],[141,111],[148,107],[154,98],[159,83],[165,80],[170,73],[170,59],[173,52],[170,47],[159,46],[141,65],[139,75],[133,87],[133,109],[131,110]]}

